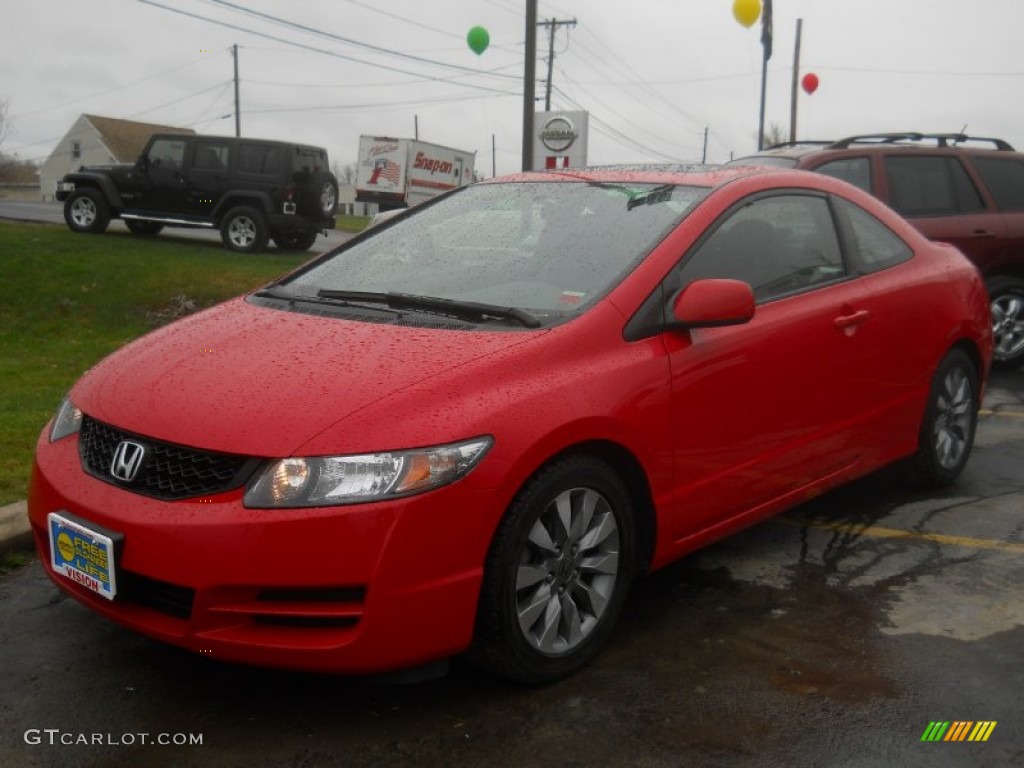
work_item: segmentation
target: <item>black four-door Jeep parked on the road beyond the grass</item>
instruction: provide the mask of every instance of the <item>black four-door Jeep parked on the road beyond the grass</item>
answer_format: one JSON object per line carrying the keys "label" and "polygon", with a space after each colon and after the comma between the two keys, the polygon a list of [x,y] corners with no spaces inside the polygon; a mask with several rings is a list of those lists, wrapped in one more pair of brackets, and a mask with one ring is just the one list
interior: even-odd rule
{"label": "black four-door Jeep parked on the road beyond the grass", "polygon": [[121,218],[135,234],[208,227],[232,251],[260,251],[270,238],[304,251],[334,227],[338,182],[317,146],[158,133],[134,165],[80,168],[57,182],[56,198],[76,232]]}

